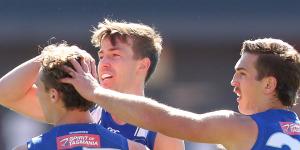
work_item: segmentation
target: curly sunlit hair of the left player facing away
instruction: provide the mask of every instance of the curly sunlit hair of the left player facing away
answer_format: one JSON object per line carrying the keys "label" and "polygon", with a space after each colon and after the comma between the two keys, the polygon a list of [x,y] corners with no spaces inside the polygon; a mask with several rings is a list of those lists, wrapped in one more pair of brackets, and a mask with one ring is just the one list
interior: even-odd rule
{"label": "curly sunlit hair of the left player facing away", "polygon": [[62,67],[67,65],[73,68],[70,59],[80,61],[81,52],[77,46],[68,46],[66,43],[62,43],[46,46],[41,54],[41,81],[45,85],[45,90],[48,91],[50,88],[58,90],[67,110],[87,111],[94,106],[94,103],[84,99],[72,85],[59,81],[62,78],[70,77]]}

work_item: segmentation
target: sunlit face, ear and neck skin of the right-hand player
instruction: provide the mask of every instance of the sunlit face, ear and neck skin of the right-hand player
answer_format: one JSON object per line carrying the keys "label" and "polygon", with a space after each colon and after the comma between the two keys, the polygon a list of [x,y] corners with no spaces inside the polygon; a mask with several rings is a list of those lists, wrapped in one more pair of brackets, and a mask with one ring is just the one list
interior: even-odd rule
{"label": "sunlit face, ear and neck skin of the right-hand player", "polygon": [[[244,53],[236,63],[236,72],[231,81],[234,93],[238,96],[238,109],[240,113],[245,115],[262,112],[268,107],[278,108],[278,106],[281,106],[276,104],[280,101],[274,97],[274,89],[269,90],[266,85],[270,84],[269,80],[273,77],[265,77],[262,80],[257,79],[255,68],[257,57],[254,54]],[[274,102],[270,103],[270,101]],[[270,104],[274,104],[274,106],[270,106]]]}

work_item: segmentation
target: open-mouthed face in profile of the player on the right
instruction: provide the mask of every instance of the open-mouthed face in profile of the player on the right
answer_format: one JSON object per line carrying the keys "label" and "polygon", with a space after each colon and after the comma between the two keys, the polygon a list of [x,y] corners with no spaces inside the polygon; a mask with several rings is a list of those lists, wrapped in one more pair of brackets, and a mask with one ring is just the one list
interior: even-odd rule
{"label": "open-mouthed face in profile of the player on the right", "polygon": [[234,93],[238,96],[238,109],[245,115],[253,114],[263,97],[262,82],[256,79],[256,60],[257,55],[244,53],[235,66],[236,71],[231,81]]}

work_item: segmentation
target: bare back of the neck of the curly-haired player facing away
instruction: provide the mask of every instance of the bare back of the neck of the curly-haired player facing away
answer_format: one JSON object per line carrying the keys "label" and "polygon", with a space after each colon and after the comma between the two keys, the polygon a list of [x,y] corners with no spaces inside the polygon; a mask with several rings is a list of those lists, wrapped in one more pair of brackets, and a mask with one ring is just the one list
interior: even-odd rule
{"label": "bare back of the neck of the curly-haired player facing away", "polygon": [[77,123],[93,123],[92,117],[89,111],[79,110],[67,110],[63,114],[59,114],[55,125],[62,124],[77,124]]}

